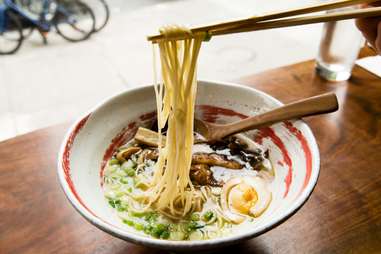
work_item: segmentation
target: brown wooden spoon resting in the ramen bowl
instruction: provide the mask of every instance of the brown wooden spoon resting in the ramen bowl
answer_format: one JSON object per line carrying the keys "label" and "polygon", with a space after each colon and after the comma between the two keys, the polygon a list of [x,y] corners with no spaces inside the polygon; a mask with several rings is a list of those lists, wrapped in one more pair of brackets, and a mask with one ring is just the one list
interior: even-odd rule
{"label": "brown wooden spoon resting in the ramen bowl", "polygon": [[214,124],[194,119],[194,130],[204,136],[206,142],[212,142],[235,133],[269,126],[285,120],[334,112],[338,108],[336,95],[327,93],[299,100],[229,124]]}

